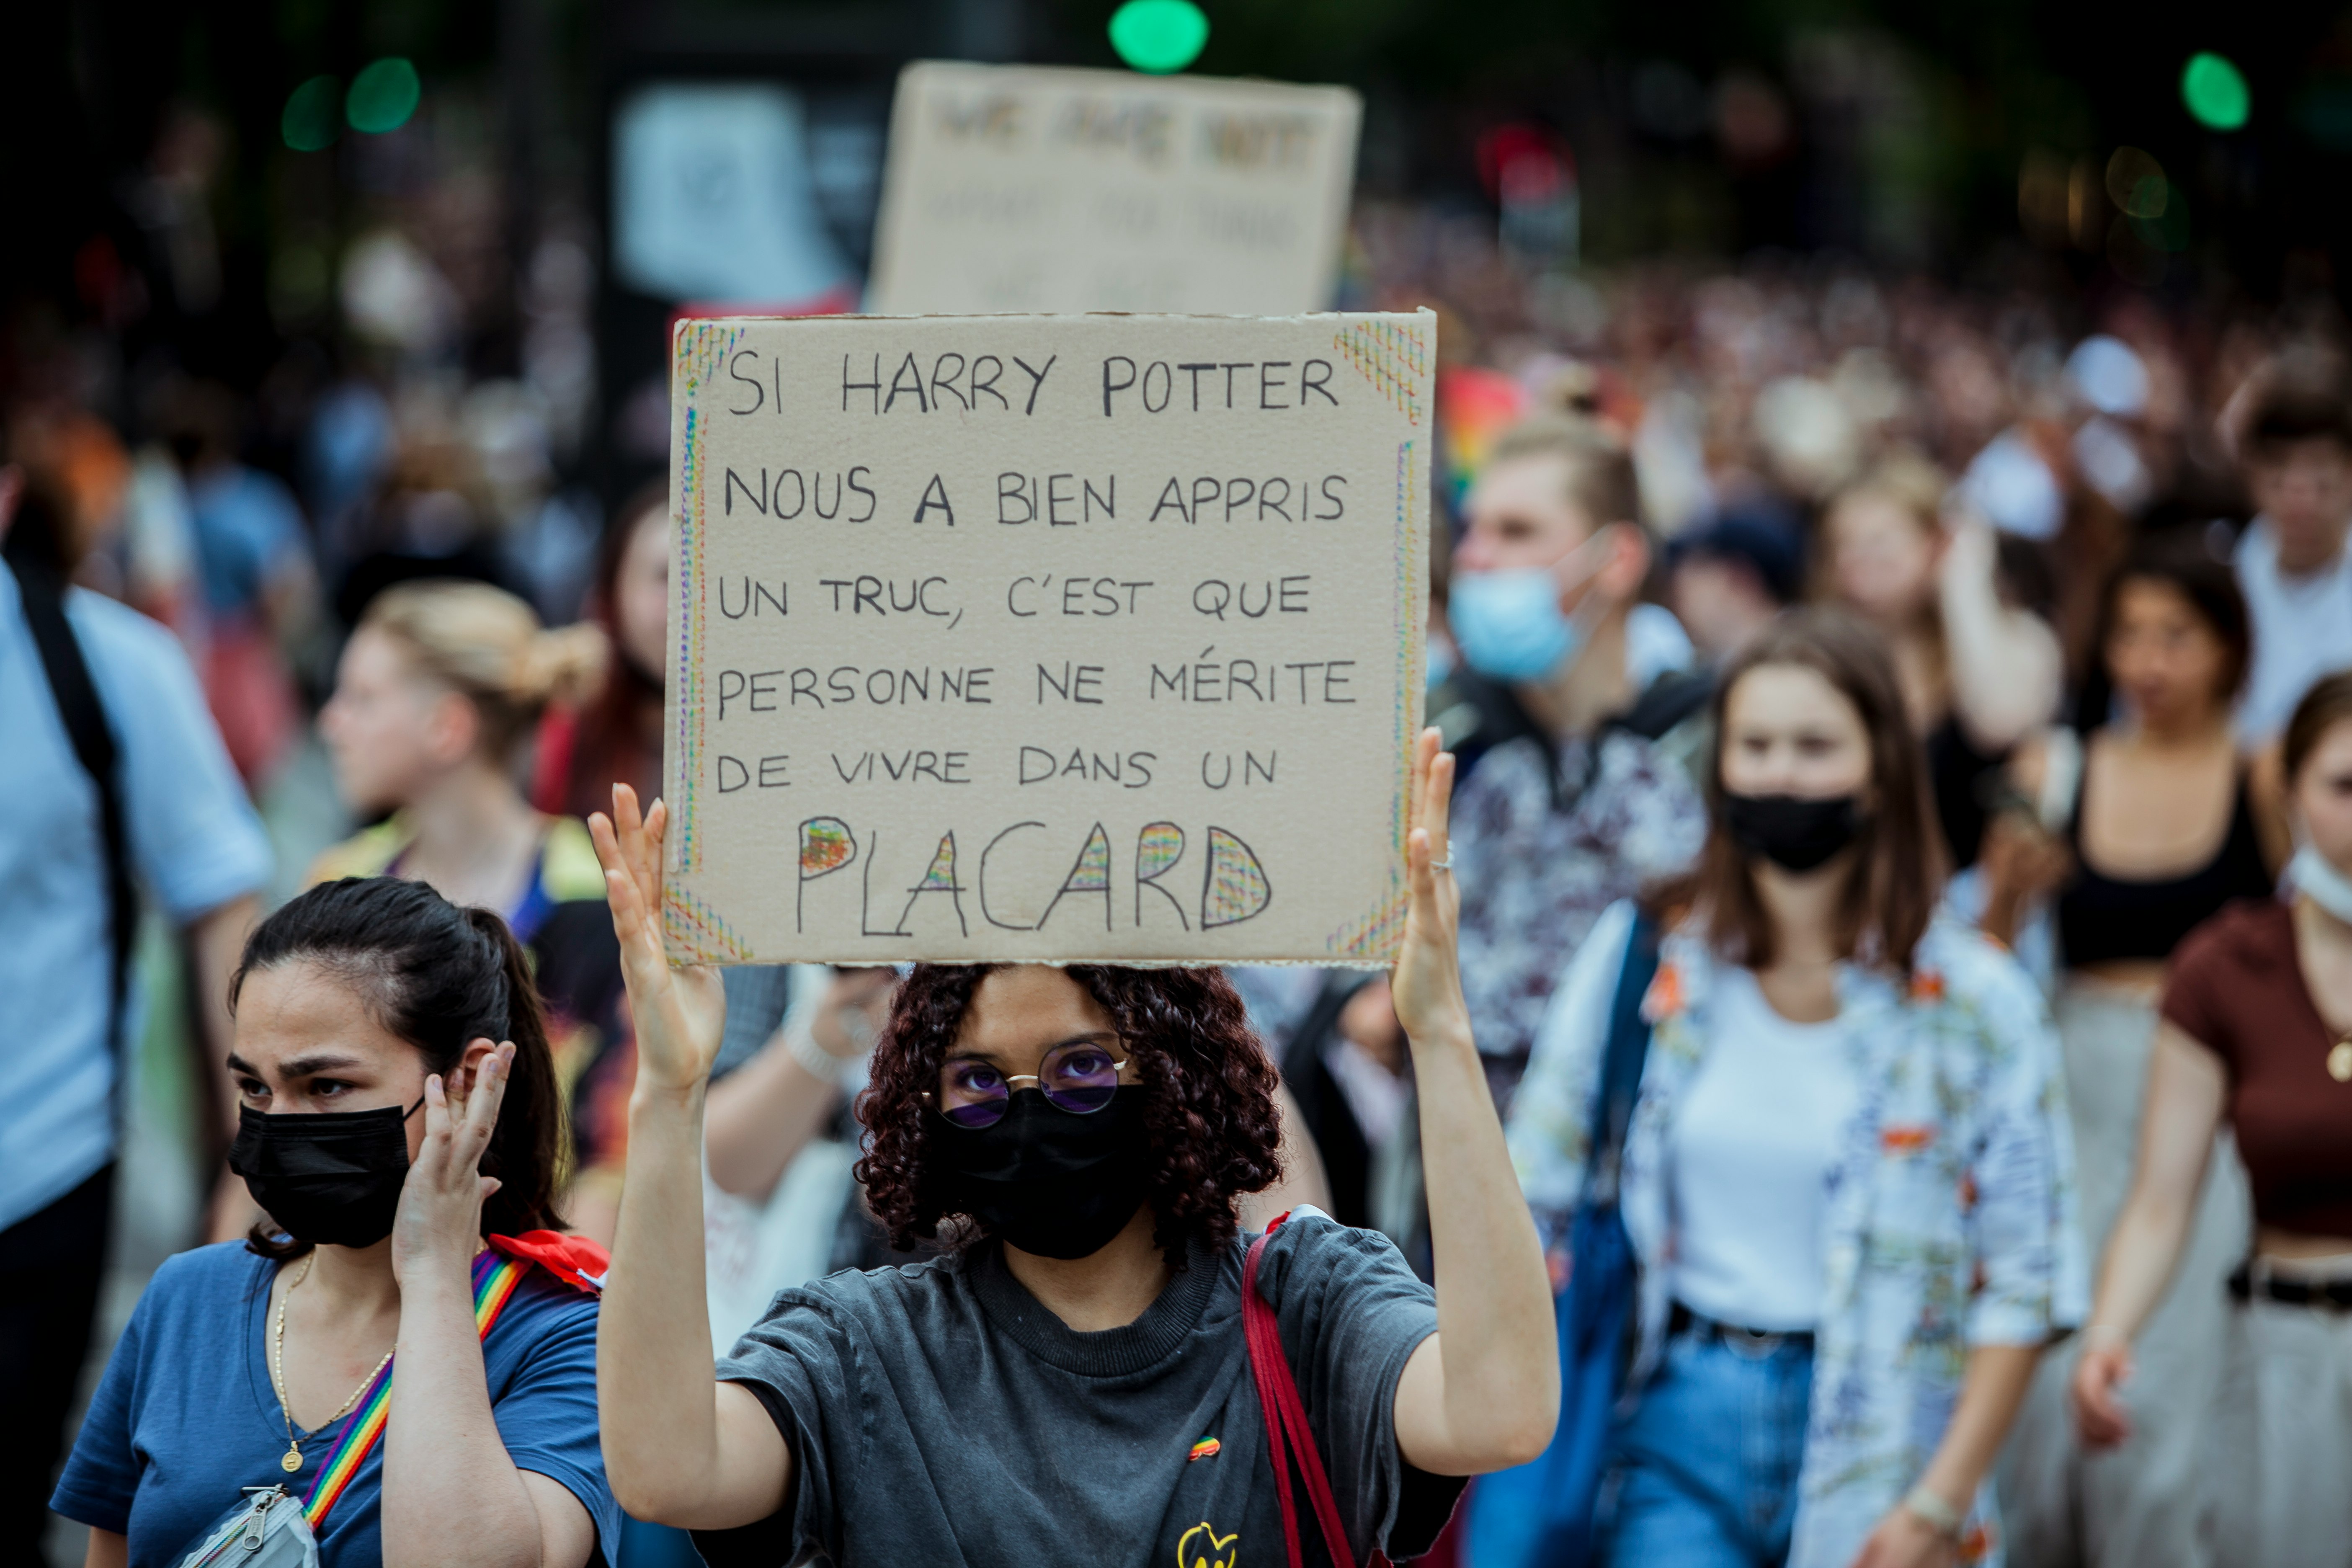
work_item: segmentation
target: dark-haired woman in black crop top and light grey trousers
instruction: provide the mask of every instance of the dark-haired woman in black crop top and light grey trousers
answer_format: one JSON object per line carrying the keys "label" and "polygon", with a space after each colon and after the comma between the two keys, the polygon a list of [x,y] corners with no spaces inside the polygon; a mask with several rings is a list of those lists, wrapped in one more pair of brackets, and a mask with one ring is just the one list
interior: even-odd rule
{"label": "dark-haired woman in black crop top and light grey trousers", "polygon": [[[2046,896],[2058,936],[2058,1046],[2067,1070],[2084,1237],[2096,1248],[2131,1187],[2157,1004],[2180,943],[2239,898],[2267,898],[2258,790],[2230,708],[2246,677],[2246,599],[2201,538],[2138,545],[2107,581],[2098,658],[2112,715],[2018,750],[2016,802],[1985,832],[1985,919],[2013,940]],[[2086,1455],[2067,1413],[2063,1356],[2034,1380],[2002,1458],[2018,1554],[2089,1568],[2199,1568],[2197,1474],[2220,1378],[2220,1281],[2246,1246],[2234,1161],[2199,1199],[2187,1269],[2145,1326],[2129,1453]]]}

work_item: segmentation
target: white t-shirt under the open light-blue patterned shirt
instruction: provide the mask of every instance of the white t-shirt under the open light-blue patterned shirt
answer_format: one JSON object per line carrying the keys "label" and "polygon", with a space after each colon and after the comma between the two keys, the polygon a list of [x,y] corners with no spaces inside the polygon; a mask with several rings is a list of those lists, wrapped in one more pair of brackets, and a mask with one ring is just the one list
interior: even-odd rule
{"label": "white t-shirt under the open light-blue patterned shirt", "polygon": [[1806,1331],[1830,1168],[1863,1086],[1835,1018],[1790,1023],[1750,971],[1717,976],[1708,1058],[1668,1143],[1675,1298],[1719,1324]]}

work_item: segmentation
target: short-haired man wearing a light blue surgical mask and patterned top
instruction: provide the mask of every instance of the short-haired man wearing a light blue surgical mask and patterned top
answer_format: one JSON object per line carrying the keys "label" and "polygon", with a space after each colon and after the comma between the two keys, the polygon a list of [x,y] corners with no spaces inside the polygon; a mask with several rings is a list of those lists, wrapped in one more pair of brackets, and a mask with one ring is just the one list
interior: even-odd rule
{"label": "short-haired man wearing a light blue surgical mask and patterned top", "polygon": [[1463,503],[1446,623],[1465,665],[1456,710],[1475,715],[1458,745],[1479,764],[1454,853],[1463,983],[1505,1103],[1592,922],[1705,837],[1691,762],[1710,679],[1675,668],[1689,642],[1639,602],[1639,515],[1623,442],[1564,416],[1505,430]]}

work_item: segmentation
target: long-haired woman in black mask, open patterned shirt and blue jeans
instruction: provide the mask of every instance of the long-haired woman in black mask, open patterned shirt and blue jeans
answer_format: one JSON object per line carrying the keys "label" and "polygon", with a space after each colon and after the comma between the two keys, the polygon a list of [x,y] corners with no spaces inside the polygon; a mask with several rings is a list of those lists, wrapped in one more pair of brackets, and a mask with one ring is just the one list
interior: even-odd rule
{"label": "long-haired woman in black mask, open patterned shirt and blue jeans", "polygon": [[1976,1559],[1992,1458],[2082,1309],[2056,1041],[2025,973],[1936,919],[1919,745],[1870,630],[1785,616],[1715,703],[1698,870],[1595,929],[1510,1119],[1529,1201],[1564,1215],[1618,973],[1656,940],[1606,1561]]}

